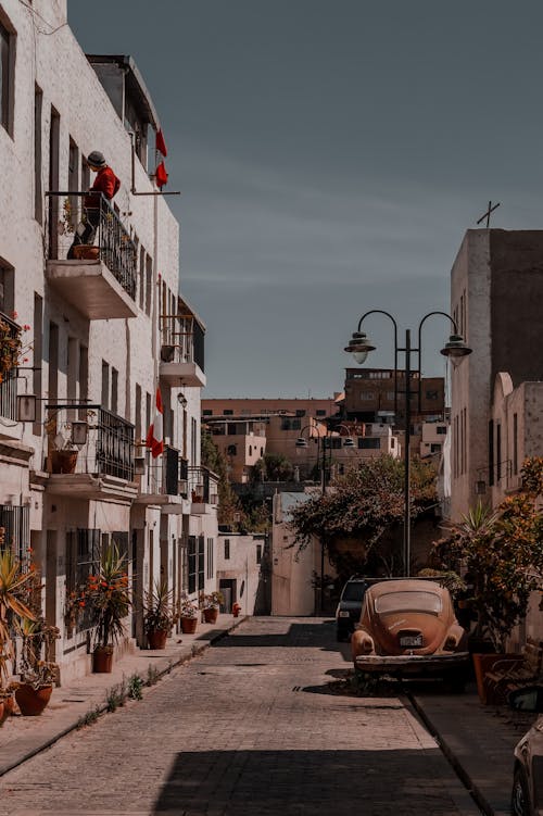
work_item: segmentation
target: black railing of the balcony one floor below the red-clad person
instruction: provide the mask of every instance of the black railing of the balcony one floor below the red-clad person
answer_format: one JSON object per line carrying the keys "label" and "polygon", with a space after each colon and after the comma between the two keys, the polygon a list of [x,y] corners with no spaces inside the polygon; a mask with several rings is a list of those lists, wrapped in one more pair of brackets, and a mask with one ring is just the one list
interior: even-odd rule
{"label": "black railing of the balcony one floor below the red-clad person", "polygon": [[[50,473],[60,459],[58,453],[72,451],[77,454],[73,456],[72,473],[134,481],[134,425],[101,405],[47,405],[47,469]],[[83,444],[76,443],[77,423],[87,424],[87,439]]]}

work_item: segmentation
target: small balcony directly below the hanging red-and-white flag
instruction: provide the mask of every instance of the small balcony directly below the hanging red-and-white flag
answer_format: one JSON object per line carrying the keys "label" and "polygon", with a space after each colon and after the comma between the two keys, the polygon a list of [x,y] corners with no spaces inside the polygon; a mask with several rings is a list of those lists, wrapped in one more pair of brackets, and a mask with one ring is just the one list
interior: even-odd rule
{"label": "small balcony directly below the hanging red-and-white flag", "polygon": [[138,504],[159,505],[163,513],[190,512],[187,501],[187,460],[171,445],[164,447],[162,456],[153,459],[146,451],[144,473],[141,474]]}

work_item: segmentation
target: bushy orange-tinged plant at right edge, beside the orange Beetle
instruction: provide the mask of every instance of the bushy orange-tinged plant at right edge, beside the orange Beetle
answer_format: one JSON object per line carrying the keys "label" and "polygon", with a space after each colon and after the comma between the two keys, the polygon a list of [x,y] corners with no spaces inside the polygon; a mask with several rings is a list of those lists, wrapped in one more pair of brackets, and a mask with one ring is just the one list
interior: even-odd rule
{"label": "bushy orange-tinged plant at right edge, beside the orange Beetle", "polygon": [[538,497],[543,487],[543,459],[522,467],[522,489],[492,511],[479,503],[453,533],[438,541],[435,552],[445,568],[465,569],[473,592],[467,599],[477,613],[479,633],[497,651],[525,616],[530,595],[543,590],[543,516]]}

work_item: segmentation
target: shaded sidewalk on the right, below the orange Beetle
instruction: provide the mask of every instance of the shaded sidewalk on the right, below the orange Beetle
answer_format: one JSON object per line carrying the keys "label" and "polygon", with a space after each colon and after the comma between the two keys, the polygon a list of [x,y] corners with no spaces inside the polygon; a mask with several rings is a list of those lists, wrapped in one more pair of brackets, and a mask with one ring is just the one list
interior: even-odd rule
{"label": "shaded sidewalk on the right, below the orange Beetle", "polygon": [[536,715],[481,705],[475,686],[465,694],[418,691],[411,699],[482,812],[509,816],[513,750]]}

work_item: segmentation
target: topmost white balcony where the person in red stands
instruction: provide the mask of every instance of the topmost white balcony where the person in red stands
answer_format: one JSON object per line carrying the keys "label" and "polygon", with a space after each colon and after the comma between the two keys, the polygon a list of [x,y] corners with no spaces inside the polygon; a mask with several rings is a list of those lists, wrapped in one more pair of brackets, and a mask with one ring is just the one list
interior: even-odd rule
{"label": "topmost white balcony where the person in red stands", "polygon": [[[96,211],[83,206],[84,192],[48,194],[50,223],[59,226],[49,235],[48,283],[89,321],[137,317],[136,246],[116,212],[102,194]],[[86,222],[90,230],[89,212],[96,237],[76,249],[79,258],[67,260],[77,225]]]}

